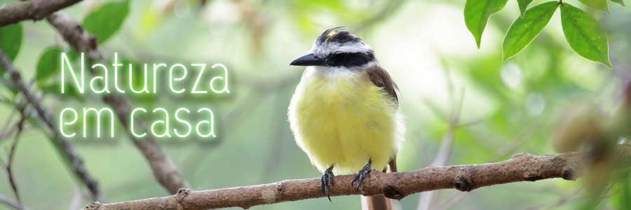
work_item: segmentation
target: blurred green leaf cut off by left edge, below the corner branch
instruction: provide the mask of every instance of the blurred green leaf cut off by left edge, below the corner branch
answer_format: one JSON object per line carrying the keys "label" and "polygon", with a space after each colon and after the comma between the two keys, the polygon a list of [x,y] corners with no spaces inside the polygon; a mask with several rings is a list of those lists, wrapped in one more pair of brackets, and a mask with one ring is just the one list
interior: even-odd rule
{"label": "blurred green leaf cut off by left edge, below the corner branch", "polygon": [[[9,60],[13,61],[15,56],[18,56],[20,45],[22,45],[22,25],[18,23],[0,27],[0,50]],[[2,72],[4,69],[0,67],[0,73]]]}

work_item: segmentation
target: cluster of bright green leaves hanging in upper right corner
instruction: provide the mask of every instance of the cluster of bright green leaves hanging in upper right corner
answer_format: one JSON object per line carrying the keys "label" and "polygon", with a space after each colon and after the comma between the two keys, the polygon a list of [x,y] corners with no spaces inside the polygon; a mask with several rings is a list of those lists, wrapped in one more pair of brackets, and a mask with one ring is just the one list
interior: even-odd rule
{"label": "cluster of bright green leaves hanging in upper right corner", "polygon": [[[468,0],[464,8],[465,23],[477,47],[480,48],[482,32],[487,21],[498,13],[508,0]],[[612,68],[609,61],[609,45],[606,31],[590,13],[576,8],[569,3],[549,1],[527,9],[532,0],[517,0],[520,15],[510,25],[502,43],[502,59],[506,61],[526,48],[536,38],[545,25],[548,25],[552,15],[560,8],[563,34],[570,48],[581,57],[593,62],[599,62]],[[623,0],[611,0],[625,6]],[[602,10],[609,11],[606,0],[583,0],[581,3]]]}

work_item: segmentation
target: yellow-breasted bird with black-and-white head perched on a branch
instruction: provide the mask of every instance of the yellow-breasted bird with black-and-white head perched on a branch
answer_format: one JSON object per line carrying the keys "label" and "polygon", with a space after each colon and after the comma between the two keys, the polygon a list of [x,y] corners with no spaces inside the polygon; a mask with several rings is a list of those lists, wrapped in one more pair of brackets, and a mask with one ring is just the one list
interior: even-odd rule
{"label": "yellow-breasted bird with black-and-white head perched on a branch", "polygon": [[357,182],[359,192],[373,169],[396,172],[405,133],[400,92],[374,50],[346,27],[334,27],[290,66],[306,66],[288,108],[290,128],[323,173],[320,190],[328,200],[335,175],[355,174],[351,186]]}

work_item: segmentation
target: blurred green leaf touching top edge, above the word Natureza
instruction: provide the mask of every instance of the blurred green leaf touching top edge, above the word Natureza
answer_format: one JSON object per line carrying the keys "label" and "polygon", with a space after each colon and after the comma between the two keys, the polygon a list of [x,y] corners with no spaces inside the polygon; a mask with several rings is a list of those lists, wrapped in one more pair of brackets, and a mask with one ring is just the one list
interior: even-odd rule
{"label": "blurred green leaf touching top edge, above the word Natureza", "polygon": [[97,37],[98,43],[103,43],[123,24],[129,13],[129,0],[107,3],[90,13],[83,20],[83,27]]}

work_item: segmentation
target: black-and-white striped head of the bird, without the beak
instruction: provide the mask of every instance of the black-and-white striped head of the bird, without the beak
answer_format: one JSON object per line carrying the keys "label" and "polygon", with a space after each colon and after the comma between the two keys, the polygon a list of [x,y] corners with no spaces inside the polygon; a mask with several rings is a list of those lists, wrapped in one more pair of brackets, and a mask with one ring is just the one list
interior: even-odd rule
{"label": "black-and-white striped head of the bird, without the beak", "polygon": [[344,27],[327,29],[313,43],[315,57],[326,59],[327,66],[367,66],[376,63],[374,51]]}

